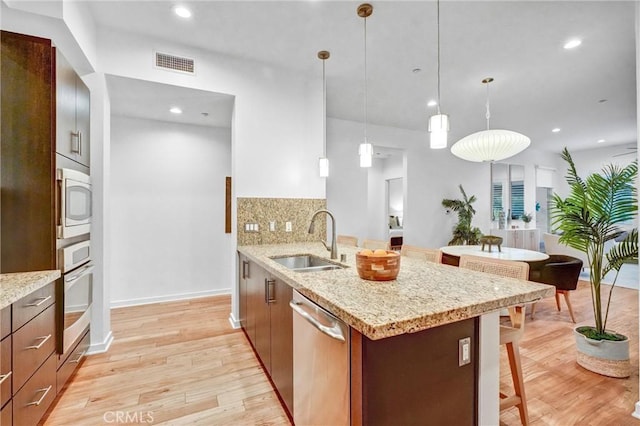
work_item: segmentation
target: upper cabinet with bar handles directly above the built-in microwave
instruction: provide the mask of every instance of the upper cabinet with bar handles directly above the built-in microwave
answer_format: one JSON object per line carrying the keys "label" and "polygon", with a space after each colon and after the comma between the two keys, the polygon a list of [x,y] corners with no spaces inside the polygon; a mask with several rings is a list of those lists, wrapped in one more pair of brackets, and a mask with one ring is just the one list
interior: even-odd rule
{"label": "upper cabinet with bar handles directly above the built-in microwave", "polygon": [[56,51],[56,152],[90,167],[89,89]]}

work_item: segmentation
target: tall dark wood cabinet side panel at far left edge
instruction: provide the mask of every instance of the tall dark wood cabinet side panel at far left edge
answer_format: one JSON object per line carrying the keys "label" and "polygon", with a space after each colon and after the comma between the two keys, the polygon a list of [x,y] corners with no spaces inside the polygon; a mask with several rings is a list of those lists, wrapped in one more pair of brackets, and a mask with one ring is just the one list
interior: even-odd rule
{"label": "tall dark wood cabinet side panel at far left edge", "polygon": [[0,272],[55,269],[54,49],[2,31]]}

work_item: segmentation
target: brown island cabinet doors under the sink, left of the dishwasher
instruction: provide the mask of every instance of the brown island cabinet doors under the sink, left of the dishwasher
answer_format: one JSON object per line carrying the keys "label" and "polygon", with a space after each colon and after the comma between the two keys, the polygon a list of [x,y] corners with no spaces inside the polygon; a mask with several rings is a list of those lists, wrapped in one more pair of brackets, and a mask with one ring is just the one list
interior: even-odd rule
{"label": "brown island cabinet doors under the sink, left of the dishwasher", "polygon": [[240,254],[240,323],[265,371],[293,413],[293,290]]}

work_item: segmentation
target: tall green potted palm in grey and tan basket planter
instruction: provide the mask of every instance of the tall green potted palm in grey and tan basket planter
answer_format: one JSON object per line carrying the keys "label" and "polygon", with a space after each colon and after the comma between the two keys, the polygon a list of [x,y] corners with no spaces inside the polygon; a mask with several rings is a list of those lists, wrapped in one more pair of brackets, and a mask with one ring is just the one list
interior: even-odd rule
{"label": "tall green potted palm in grey and tan basket planter", "polygon": [[[608,330],[607,320],[618,272],[625,262],[638,257],[638,230],[628,232],[606,253],[605,243],[624,235],[620,224],[636,217],[638,199],[634,184],[638,164],[637,161],[626,167],[609,164],[600,174],[593,173],[582,179],[566,148],[562,158],[569,165],[566,180],[570,192],[566,199],[553,195],[552,224],[562,232],[561,243],[587,255],[595,320],[593,326],[574,330],[577,361],[599,374],[628,377],[631,373],[629,339]],[[603,288],[602,279],[611,271],[615,271],[613,284],[609,289]]]}

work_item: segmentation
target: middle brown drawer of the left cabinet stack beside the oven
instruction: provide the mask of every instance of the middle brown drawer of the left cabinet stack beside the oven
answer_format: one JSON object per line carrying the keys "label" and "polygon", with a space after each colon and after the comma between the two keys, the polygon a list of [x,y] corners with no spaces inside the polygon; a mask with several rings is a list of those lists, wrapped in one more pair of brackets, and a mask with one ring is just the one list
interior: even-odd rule
{"label": "middle brown drawer of the left cabinet stack beside the oven", "polygon": [[[54,352],[56,346],[55,320],[54,304],[13,333],[14,395]],[[14,408],[17,412],[17,407]]]}

